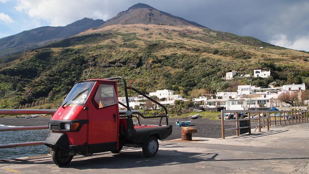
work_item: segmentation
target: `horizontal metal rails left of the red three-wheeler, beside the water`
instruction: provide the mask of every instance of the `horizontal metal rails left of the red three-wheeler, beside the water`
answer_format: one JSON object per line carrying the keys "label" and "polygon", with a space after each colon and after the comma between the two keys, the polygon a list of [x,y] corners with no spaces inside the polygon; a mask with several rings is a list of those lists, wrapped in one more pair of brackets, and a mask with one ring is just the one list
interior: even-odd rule
{"label": "horizontal metal rails left of the red three-wheeler, beside the water", "polygon": [[[0,115],[16,115],[16,114],[53,114],[56,109],[0,109]],[[16,118],[23,119],[23,118]],[[2,127],[0,131],[18,131],[18,130],[38,130],[38,129],[48,129],[47,126],[16,126],[16,127]],[[20,147],[20,146],[36,146],[42,145],[44,141],[36,142],[19,142],[10,144],[0,144],[0,149],[10,148],[10,147]]]}

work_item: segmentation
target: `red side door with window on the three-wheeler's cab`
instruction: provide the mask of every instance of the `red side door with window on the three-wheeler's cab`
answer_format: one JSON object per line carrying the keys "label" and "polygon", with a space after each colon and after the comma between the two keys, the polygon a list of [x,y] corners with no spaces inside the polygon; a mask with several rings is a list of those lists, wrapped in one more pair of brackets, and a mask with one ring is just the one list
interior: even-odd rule
{"label": "red side door with window on the three-wheeler's cab", "polygon": [[118,139],[118,99],[115,83],[99,83],[89,102],[88,152],[116,150]]}

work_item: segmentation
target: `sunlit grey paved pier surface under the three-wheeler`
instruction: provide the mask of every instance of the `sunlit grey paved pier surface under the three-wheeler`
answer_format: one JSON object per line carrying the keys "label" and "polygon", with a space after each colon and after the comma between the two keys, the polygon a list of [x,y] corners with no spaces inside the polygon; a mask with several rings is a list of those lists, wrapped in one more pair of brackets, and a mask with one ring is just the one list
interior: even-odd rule
{"label": "sunlit grey paved pier surface under the three-wheeler", "polygon": [[49,155],[2,160],[0,173],[309,173],[309,123],[262,131],[237,138],[164,141],[153,158],[136,148],[121,154],[78,155],[64,168],[53,164]]}

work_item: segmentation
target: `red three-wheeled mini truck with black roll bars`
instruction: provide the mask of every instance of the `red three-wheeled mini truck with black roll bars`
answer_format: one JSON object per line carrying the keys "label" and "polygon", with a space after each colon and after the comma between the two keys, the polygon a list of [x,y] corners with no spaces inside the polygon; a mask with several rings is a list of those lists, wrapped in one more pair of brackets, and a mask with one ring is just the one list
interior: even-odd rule
{"label": "red three-wheeled mini truck with black roll bars", "polygon": [[[122,80],[118,86],[124,86],[126,104],[118,101],[115,80]],[[128,88],[160,105],[165,115],[145,117],[140,111],[131,110]],[[118,104],[126,110],[119,110]],[[159,124],[141,125],[138,116],[159,118]],[[133,117],[137,122],[133,123]],[[166,125],[161,125],[163,118]],[[44,144],[53,149],[52,159],[58,166],[69,164],[76,154],[119,153],[123,146],[142,147],[143,154],[152,157],[158,152],[158,139],[165,139],[172,132],[165,106],[134,87],[127,87],[122,77],[76,82],[49,121],[49,129],[51,133]]]}

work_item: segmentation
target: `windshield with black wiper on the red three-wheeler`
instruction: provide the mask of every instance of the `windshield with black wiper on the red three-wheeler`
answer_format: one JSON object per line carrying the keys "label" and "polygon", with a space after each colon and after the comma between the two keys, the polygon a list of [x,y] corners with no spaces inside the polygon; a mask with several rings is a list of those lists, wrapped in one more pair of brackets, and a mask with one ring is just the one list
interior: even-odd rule
{"label": "windshield with black wiper on the red three-wheeler", "polygon": [[85,104],[95,82],[76,83],[62,104]]}

